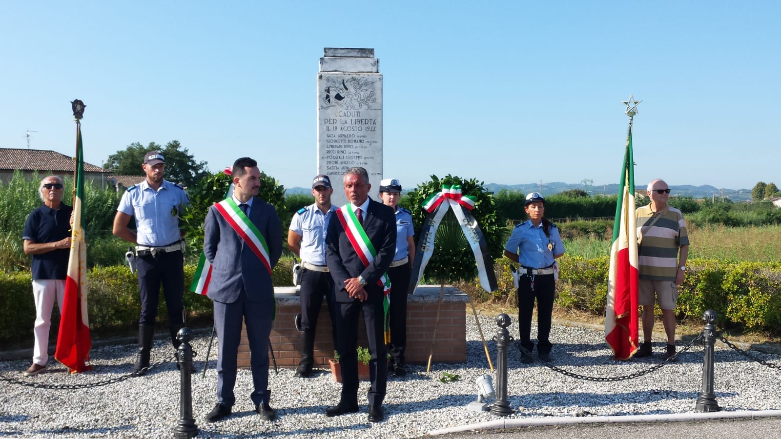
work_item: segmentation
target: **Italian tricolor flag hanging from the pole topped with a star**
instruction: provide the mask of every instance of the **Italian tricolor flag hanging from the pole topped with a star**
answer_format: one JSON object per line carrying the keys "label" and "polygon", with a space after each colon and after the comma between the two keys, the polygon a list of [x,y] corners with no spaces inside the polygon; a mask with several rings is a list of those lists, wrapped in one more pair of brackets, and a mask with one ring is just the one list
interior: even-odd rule
{"label": "Italian tricolor flag hanging from the pole topped with a star", "polygon": [[608,303],[604,339],[613,359],[627,360],[637,352],[637,219],[635,216],[632,123],[626,136],[621,190],[615,205],[613,244],[610,249]]}

